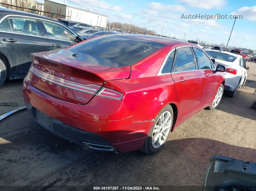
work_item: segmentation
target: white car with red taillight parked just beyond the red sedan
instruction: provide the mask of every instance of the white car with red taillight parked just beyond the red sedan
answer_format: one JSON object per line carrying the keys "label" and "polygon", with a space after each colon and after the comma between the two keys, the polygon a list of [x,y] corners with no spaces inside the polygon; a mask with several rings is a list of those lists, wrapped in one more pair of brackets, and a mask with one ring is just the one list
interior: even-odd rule
{"label": "white car with red taillight parked just beyond the red sedan", "polygon": [[209,57],[215,59],[214,65],[226,67],[224,90],[230,97],[234,97],[237,89],[244,85],[247,79],[246,60],[237,54],[221,52],[219,50],[205,50]]}

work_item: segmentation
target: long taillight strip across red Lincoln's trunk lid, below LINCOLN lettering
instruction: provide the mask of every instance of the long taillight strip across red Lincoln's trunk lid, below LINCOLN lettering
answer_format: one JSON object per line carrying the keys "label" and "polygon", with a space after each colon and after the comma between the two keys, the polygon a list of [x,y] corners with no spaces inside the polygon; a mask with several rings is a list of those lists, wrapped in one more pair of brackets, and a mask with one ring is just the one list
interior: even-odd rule
{"label": "long taillight strip across red Lincoln's trunk lid, below LINCOLN lettering", "polygon": [[[48,82],[67,87],[73,90],[77,90],[80,92],[86,92],[89,94],[95,94],[101,86],[96,85],[96,84],[80,84],[77,82],[72,82],[63,78],[56,77],[54,75],[48,74],[46,72],[43,72],[41,70],[38,70],[35,67],[31,67],[30,71],[38,76],[39,78],[42,78],[44,80],[47,80]],[[73,86],[73,87],[72,87]]]}

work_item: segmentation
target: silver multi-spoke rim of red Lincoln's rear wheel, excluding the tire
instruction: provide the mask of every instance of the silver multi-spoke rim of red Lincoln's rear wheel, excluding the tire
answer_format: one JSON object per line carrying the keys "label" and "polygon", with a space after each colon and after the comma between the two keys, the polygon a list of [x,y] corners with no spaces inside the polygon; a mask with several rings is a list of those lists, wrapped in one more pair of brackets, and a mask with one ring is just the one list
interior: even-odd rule
{"label": "silver multi-spoke rim of red Lincoln's rear wheel, excluding the tire", "polygon": [[156,121],[152,133],[152,146],[156,149],[164,144],[172,124],[172,115],[165,111]]}

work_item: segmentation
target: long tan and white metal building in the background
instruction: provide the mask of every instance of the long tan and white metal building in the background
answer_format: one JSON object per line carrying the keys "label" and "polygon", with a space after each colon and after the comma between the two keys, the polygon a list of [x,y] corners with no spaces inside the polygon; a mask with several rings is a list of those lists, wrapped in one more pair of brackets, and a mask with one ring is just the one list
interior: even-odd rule
{"label": "long tan and white metal building in the background", "polygon": [[[65,3],[65,1],[64,1]],[[50,7],[51,10],[46,10]],[[65,4],[56,3],[53,1],[44,1],[45,11],[61,15],[61,18],[78,21],[92,26],[106,27],[108,16],[101,15],[95,12],[71,7]]]}

